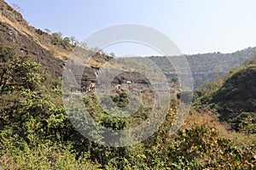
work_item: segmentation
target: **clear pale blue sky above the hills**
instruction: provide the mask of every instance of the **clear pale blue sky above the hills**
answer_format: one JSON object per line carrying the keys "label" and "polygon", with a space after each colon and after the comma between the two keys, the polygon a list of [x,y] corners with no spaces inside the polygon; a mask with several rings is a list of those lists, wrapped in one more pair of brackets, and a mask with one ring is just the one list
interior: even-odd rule
{"label": "clear pale blue sky above the hills", "polygon": [[[5,0],[22,8],[30,25],[79,41],[108,26],[149,26],[183,54],[231,53],[256,46],[255,0]],[[141,51],[139,50],[141,49]],[[157,54],[140,44],[116,44],[119,55]]]}

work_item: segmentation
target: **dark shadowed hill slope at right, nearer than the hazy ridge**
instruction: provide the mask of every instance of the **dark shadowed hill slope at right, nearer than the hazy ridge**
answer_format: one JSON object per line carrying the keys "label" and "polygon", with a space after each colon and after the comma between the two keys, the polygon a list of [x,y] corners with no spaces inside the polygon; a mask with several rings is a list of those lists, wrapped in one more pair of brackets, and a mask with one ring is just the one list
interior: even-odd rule
{"label": "dark shadowed hill slope at right, nearer than the hazy ridge", "polygon": [[203,85],[195,94],[196,105],[217,111],[220,120],[229,122],[232,129],[256,133],[256,58]]}

